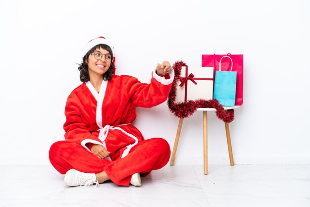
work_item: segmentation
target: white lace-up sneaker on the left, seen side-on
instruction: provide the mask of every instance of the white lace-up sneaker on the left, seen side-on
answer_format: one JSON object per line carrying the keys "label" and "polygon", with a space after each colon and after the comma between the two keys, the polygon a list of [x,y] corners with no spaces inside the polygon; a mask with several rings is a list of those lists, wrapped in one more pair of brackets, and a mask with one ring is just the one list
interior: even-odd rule
{"label": "white lace-up sneaker on the left, seen side-on", "polygon": [[64,183],[68,186],[82,186],[88,187],[90,185],[96,184],[96,188],[99,187],[98,180],[96,180],[95,173],[85,173],[80,172],[76,169],[70,169],[66,172],[64,179]]}

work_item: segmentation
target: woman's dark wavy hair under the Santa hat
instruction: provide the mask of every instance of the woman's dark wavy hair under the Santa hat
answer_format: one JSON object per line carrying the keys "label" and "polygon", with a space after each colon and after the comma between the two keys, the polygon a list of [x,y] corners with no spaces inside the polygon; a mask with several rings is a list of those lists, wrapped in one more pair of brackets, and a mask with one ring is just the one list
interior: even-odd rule
{"label": "woman's dark wavy hair under the Santa hat", "polygon": [[94,52],[96,49],[103,49],[103,50],[106,50],[108,51],[111,55],[112,55],[112,61],[111,61],[111,65],[109,67],[109,69],[103,74],[103,80],[111,80],[112,78],[112,75],[113,75],[113,72],[115,71],[115,65],[113,63],[113,52],[111,50],[111,48],[107,45],[103,45],[103,44],[100,44],[100,45],[96,45],[95,47],[93,47],[90,51],[88,51],[84,57],[83,57],[83,62],[81,64],[78,64],[80,65],[78,67],[79,71],[80,71],[80,80],[82,82],[87,82],[89,81],[89,73],[88,73],[88,65],[87,65],[87,62],[88,61],[88,57],[89,55]]}

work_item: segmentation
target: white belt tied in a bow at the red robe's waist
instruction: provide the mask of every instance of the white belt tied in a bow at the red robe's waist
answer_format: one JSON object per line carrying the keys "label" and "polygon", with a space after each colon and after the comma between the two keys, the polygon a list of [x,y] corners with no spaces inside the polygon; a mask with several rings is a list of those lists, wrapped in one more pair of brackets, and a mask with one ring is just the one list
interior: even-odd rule
{"label": "white belt tied in a bow at the red robe's waist", "polygon": [[[131,144],[131,145],[127,145],[127,149],[124,150],[121,158],[127,156],[131,150],[132,147],[134,147],[135,145],[138,144],[138,138],[133,136],[132,134],[126,132],[125,130],[123,130],[122,128],[118,127],[118,126],[124,126],[124,125],[128,125],[128,124],[120,124],[120,125],[117,125],[117,126],[110,126],[110,125],[105,125],[103,128],[100,128],[100,132],[99,132],[99,136],[98,138],[103,142],[103,145],[104,145],[104,148],[106,149],[106,145],[105,145],[105,139],[107,137],[107,134],[109,133],[109,129],[112,129],[112,130],[120,130],[121,132],[123,132],[124,134],[126,134],[127,136],[131,137],[132,139],[135,140],[135,143],[134,144]],[[106,149],[107,150],[107,149]],[[109,157],[108,157],[109,158]]]}

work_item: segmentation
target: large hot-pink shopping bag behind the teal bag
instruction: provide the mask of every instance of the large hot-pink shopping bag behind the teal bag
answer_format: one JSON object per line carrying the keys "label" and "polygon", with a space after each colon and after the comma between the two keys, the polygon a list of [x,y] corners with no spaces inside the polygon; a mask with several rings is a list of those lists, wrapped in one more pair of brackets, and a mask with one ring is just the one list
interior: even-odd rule
{"label": "large hot-pink shopping bag behind the teal bag", "polygon": [[243,104],[243,54],[203,54],[202,55],[202,66],[203,67],[214,67],[215,71],[219,70],[219,62],[223,56],[229,56],[232,59],[233,65],[231,65],[231,60],[228,57],[224,57],[221,61],[222,71],[230,70],[237,72],[237,83],[236,83],[236,101],[235,105]]}

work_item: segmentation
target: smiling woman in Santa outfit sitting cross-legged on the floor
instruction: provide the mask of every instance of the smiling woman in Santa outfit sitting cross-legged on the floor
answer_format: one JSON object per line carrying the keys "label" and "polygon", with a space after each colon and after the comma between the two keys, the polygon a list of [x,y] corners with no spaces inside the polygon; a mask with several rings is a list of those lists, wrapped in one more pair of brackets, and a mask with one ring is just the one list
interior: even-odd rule
{"label": "smiling woman in Santa outfit sitting cross-legged on the floor", "polygon": [[150,84],[127,75],[114,75],[113,47],[103,37],[91,40],[79,66],[82,85],[65,106],[65,141],[54,143],[50,161],[65,174],[68,186],[111,180],[117,185],[141,185],[141,176],[162,168],[170,147],[162,138],[145,140],[131,123],[136,107],[163,103],[174,71],[168,61],[157,64]]}

